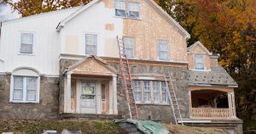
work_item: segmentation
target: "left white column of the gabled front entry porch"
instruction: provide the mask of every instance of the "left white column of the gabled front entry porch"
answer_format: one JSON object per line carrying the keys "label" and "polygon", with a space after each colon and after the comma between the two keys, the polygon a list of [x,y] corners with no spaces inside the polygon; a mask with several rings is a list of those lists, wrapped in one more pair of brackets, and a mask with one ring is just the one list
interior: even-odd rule
{"label": "left white column of the gabled front entry porch", "polygon": [[64,113],[71,113],[71,74],[65,75]]}

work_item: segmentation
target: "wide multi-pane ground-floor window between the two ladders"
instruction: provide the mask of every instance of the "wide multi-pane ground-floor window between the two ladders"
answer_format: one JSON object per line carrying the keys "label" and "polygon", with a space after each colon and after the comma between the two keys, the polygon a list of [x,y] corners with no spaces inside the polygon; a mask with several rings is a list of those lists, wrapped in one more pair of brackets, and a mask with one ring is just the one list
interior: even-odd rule
{"label": "wide multi-pane ground-floor window between the two ladders", "polygon": [[[133,81],[133,90],[137,103],[168,103],[165,81]],[[153,96],[151,92],[153,92]]]}

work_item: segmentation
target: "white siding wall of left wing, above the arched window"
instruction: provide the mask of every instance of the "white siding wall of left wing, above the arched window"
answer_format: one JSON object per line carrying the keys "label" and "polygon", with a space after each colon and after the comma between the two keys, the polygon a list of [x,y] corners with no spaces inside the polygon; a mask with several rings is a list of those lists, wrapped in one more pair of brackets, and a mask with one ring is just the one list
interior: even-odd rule
{"label": "white siding wall of left wing, above the arched window", "polygon": [[[78,8],[70,8],[53,13],[38,14],[20,20],[3,22],[0,59],[1,72],[12,72],[15,68],[30,67],[40,74],[58,75],[60,42],[55,30],[58,23]],[[34,34],[33,54],[20,54],[20,32]],[[1,65],[0,65],[1,67]],[[2,67],[1,67],[2,68]]]}

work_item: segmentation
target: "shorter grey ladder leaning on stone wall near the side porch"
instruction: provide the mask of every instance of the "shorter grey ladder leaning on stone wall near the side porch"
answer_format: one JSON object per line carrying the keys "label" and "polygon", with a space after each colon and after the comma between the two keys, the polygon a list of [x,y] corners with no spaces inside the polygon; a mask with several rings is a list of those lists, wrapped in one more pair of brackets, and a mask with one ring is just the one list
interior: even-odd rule
{"label": "shorter grey ladder leaning on stone wall near the side porch", "polygon": [[179,106],[177,103],[177,96],[176,96],[175,89],[174,89],[176,86],[173,86],[173,82],[174,82],[174,84],[176,84],[176,81],[172,81],[172,75],[170,74],[170,72],[168,72],[168,74],[167,74],[167,76],[169,78],[169,82],[167,81],[166,74],[164,74],[164,76],[165,76],[165,80],[166,80],[166,88],[167,88],[166,91],[168,92],[168,97],[169,97],[169,100],[170,100],[170,103],[172,106],[172,114],[173,114],[175,123],[176,123],[176,125],[178,123],[181,123],[183,125],[183,119],[180,114],[180,109],[179,109]]}

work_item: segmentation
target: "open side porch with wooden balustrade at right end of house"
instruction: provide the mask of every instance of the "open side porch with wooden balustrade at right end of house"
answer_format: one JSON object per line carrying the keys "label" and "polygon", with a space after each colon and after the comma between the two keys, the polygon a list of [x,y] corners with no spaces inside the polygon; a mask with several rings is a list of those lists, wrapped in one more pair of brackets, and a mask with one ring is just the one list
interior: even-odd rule
{"label": "open side porch with wooden balustrade at right end of house", "polygon": [[201,89],[189,91],[190,119],[224,120],[236,118],[233,90]]}

